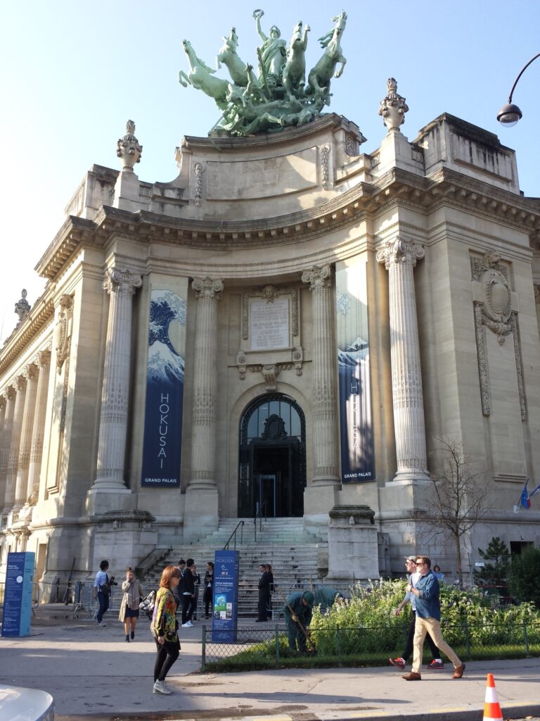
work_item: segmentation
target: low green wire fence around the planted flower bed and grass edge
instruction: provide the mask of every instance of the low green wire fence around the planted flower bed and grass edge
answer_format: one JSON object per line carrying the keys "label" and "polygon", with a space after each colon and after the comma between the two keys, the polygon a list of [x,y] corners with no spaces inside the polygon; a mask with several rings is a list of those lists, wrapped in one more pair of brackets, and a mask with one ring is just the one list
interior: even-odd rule
{"label": "low green wire fence around the planted flower bed and grass edge", "polygon": [[[516,624],[443,625],[444,639],[462,660],[540,655],[540,619]],[[311,629],[307,650],[291,650],[282,624],[238,628],[235,642],[213,642],[202,627],[202,671],[276,668],[283,665],[381,665],[402,653],[408,624],[395,627]],[[426,647],[427,648],[427,647]],[[309,659],[312,659],[309,661]],[[431,660],[425,653],[426,663]]]}

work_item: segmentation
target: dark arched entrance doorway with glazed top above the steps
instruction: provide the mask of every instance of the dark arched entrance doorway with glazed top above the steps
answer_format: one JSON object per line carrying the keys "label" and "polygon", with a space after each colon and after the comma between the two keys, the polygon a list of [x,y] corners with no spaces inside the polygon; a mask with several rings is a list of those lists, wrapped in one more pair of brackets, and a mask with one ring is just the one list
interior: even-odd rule
{"label": "dark arched entrance doorway with glazed top above the steps", "polygon": [[240,418],[238,516],[303,516],[305,416],[282,393],[252,401]]}

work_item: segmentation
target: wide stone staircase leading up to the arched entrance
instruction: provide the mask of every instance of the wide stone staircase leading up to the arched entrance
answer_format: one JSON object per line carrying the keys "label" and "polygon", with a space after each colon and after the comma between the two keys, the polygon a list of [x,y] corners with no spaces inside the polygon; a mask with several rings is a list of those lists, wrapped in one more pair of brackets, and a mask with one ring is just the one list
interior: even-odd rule
{"label": "wide stone staircase leading up to the arched entrance", "polygon": [[[230,536],[241,520],[244,525],[238,528],[234,541]],[[163,567],[176,565],[181,558],[194,559],[202,580],[207,562],[213,562],[214,552],[222,549],[228,541],[229,549],[240,554],[238,615],[243,618],[256,618],[257,615],[259,563],[270,563],[272,566],[276,585],[272,606],[276,610],[281,609],[284,596],[292,590],[309,589],[310,584],[320,583],[320,574],[326,573],[328,543],[322,536],[307,533],[302,518],[268,518],[257,521],[256,528],[253,518],[224,518],[214,533],[191,544],[179,544],[172,548],[145,574],[145,587],[157,586]],[[202,592],[201,586],[197,609],[199,619],[204,616]]]}

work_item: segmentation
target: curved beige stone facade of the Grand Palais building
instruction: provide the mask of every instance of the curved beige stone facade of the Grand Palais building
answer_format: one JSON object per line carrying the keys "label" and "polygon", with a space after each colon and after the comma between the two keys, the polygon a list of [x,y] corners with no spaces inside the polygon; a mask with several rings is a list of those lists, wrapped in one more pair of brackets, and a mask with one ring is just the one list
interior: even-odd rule
{"label": "curved beige stone facade of the Grand Palais building", "polygon": [[[513,510],[540,482],[540,204],[491,133],[445,114],[410,142],[397,125],[372,154],[327,115],[184,138],[170,183],[123,161],[86,174],[0,352],[0,574],[24,549],[42,582],[73,559],[74,578],[102,557],[138,565],[251,515],[259,493],[328,534],[330,578],[400,572],[420,549],[451,576],[451,544],[426,531],[439,439],[487,489],[465,570],[495,534],[540,544],[536,502]],[[376,472],[342,482],[336,273],[357,262]],[[165,339],[183,364],[171,487],[141,479],[156,289],[185,310]]]}

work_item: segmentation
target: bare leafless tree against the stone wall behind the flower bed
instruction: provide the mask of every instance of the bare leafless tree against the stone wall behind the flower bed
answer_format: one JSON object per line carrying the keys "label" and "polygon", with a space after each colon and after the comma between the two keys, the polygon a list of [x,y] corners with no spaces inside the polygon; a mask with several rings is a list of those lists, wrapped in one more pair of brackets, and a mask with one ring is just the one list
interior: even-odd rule
{"label": "bare leafless tree against the stone wall behind the flower bed", "polygon": [[463,588],[462,536],[468,534],[485,513],[487,488],[483,474],[472,472],[472,461],[463,455],[458,441],[438,438],[436,453],[442,456],[441,472],[431,474],[433,505],[426,521],[432,536],[449,534],[454,541],[459,585]]}

